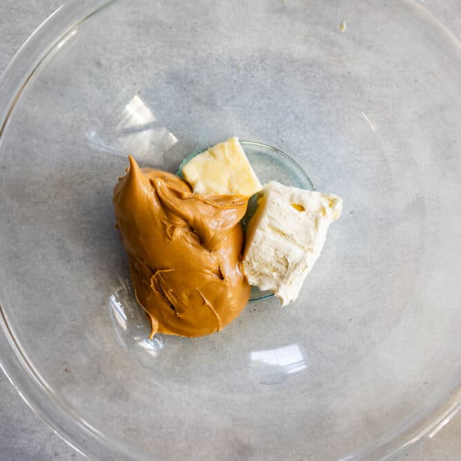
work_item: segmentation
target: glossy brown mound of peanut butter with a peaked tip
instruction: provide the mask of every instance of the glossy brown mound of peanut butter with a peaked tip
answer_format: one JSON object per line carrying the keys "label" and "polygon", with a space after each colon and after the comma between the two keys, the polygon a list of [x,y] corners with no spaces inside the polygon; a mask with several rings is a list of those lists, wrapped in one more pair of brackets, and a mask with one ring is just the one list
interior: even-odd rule
{"label": "glossy brown mound of peanut butter with a peaked tip", "polygon": [[250,297],[239,225],[248,197],[195,195],[183,179],[129,159],[113,204],[135,295],[151,320],[150,337],[221,330]]}

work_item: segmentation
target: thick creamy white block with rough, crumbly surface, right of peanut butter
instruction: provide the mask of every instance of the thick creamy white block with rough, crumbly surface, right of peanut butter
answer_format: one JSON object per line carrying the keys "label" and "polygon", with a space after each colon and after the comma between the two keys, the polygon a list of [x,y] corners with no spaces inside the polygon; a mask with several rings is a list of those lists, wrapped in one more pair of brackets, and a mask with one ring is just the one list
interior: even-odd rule
{"label": "thick creamy white block with rough, crumbly surface, right of peanut butter", "polygon": [[342,199],[269,182],[246,230],[244,271],[248,282],[270,290],[282,305],[296,300],[320,255]]}

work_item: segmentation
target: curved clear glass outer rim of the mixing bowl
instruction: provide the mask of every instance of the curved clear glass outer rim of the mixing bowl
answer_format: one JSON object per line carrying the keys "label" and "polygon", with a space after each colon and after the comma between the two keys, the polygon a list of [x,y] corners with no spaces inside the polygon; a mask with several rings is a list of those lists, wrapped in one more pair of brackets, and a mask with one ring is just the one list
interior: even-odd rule
{"label": "curved clear glass outer rim of the mixing bowl", "polygon": [[[0,77],[0,108],[4,108],[0,113],[0,148],[14,107],[37,70],[46,65],[48,59],[59,49],[59,44],[69,39],[79,24],[116,1],[66,1],[23,43]],[[441,35],[453,39],[452,32],[432,12],[420,4],[417,5],[413,0],[406,3],[413,6],[415,14],[420,14],[425,21],[429,21]],[[137,453],[131,447],[128,450],[117,440],[107,438],[53,394],[46,380],[22,349],[14,329],[8,322],[8,313],[3,308],[5,304],[1,304],[2,299],[4,297],[0,285],[0,328],[3,331],[3,334],[0,334],[0,368],[32,411],[37,413],[52,431],[84,456],[98,460],[120,459],[120,455],[130,461],[145,459],[145,453]],[[459,373],[455,375],[455,372],[453,376],[459,380]],[[380,438],[373,439],[357,451],[344,456],[341,461],[390,460],[406,453],[423,440],[432,438],[460,411],[461,382],[458,381],[454,387],[446,386],[444,395],[444,398],[438,398],[408,415],[398,426],[386,431]]]}

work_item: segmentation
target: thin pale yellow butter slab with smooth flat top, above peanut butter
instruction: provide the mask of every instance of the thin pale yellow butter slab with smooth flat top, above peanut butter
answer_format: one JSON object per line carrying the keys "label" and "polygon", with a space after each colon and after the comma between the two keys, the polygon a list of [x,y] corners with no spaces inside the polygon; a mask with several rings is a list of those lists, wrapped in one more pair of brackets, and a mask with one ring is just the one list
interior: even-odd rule
{"label": "thin pale yellow butter slab with smooth flat top, above peanut butter", "polygon": [[182,168],[196,194],[246,195],[261,190],[261,183],[237,137],[216,144]]}

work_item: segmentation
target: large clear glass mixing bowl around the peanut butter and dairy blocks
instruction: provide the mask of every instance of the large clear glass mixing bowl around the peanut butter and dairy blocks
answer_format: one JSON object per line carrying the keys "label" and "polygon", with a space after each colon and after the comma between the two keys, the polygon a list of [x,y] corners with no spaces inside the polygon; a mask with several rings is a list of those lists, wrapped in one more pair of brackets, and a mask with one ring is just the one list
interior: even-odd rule
{"label": "large clear glass mixing bowl around the peanut butter and dairy blocks", "polygon": [[[66,3],[0,83],[2,368],[99,460],[404,453],[461,402],[460,106],[415,1]],[[112,187],[231,135],[343,215],[294,304],[146,342]]]}

